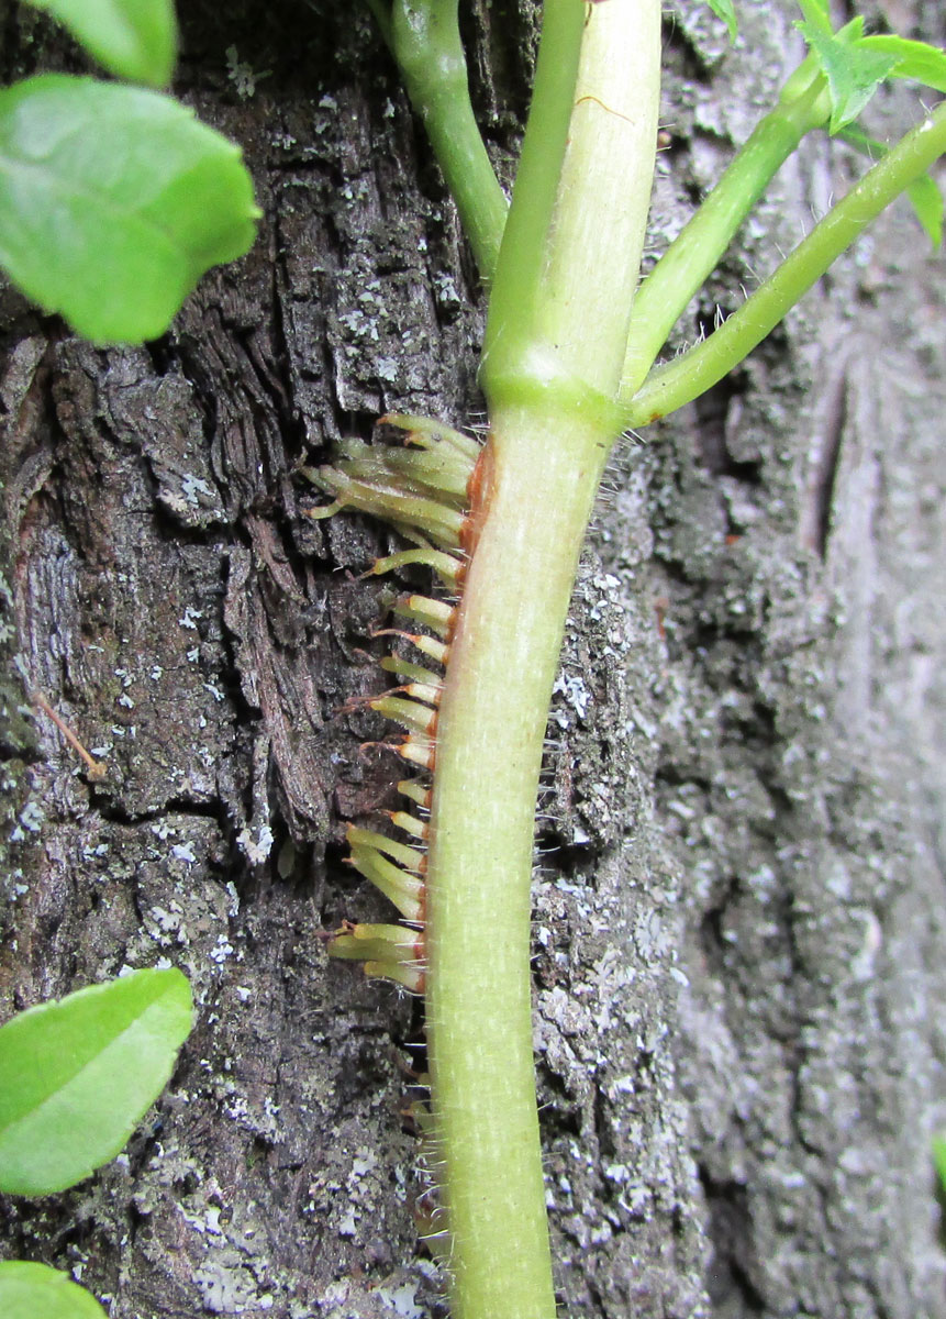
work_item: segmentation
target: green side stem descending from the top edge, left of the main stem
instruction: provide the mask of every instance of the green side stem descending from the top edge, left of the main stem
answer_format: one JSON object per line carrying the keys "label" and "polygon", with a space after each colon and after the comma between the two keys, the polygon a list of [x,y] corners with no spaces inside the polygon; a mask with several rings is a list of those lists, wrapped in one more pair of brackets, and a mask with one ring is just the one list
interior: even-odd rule
{"label": "green side stem descending from the top edge, left of the main stem", "polygon": [[447,179],[480,274],[493,277],[506,198],[493,171],[469,99],[457,0],[395,0],[390,20],[369,0],[404,78],[411,104]]}

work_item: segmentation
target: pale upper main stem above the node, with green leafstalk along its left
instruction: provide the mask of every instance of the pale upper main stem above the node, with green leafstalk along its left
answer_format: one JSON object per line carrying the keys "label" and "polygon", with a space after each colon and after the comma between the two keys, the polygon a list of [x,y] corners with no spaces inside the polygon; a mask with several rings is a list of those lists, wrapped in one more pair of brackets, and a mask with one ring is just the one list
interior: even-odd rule
{"label": "pale upper main stem above the node, with green leafstalk along its left", "polygon": [[[564,33],[549,29],[549,58],[560,59],[543,95],[568,90],[561,70],[570,54],[565,38],[574,40],[572,15]],[[480,379],[493,410],[527,397],[542,406],[551,390],[619,430],[614,397],[654,174],[659,21],[656,0],[594,7],[582,17],[565,132],[559,120],[555,135],[534,127],[543,113],[536,86],[523,145],[524,166],[532,144],[531,173],[520,166],[516,175],[486,322]],[[552,166],[549,223],[543,208]]]}

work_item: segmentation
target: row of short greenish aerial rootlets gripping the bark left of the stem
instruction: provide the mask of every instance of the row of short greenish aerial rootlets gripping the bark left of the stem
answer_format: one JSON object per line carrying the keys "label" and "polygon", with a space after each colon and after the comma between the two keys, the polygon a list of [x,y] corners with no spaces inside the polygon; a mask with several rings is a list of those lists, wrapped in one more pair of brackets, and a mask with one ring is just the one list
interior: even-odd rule
{"label": "row of short greenish aerial rootlets gripping the bark left of the stem", "polygon": [[[433,570],[447,590],[460,590],[469,550],[469,491],[481,446],[424,417],[389,415],[378,425],[402,431],[403,445],[365,445],[347,439],[333,466],[307,471],[333,503],[311,510],[316,518],[343,508],[385,518],[415,549],[376,559],[372,574],[390,572],[411,563]],[[406,729],[387,744],[411,765],[428,773],[436,758],[437,706],[456,607],[424,595],[398,600],[394,613],[423,630],[383,628],[376,636],[407,642],[424,663],[401,654],[385,656],[381,667],[399,686],[353,704],[377,710]],[[433,665],[435,667],[428,667]],[[431,789],[420,780],[404,780],[398,791],[426,816]],[[348,827],[349,863],[374,884],[401,911],[404,925],[345,925],[328,944],[335,958],[364,960],[365,972],[387,976],[415,992],[424,988],[424,869],[427,823],[410,810],[390,811],[391,823],[411,842],[402,843],[373,830]]]}

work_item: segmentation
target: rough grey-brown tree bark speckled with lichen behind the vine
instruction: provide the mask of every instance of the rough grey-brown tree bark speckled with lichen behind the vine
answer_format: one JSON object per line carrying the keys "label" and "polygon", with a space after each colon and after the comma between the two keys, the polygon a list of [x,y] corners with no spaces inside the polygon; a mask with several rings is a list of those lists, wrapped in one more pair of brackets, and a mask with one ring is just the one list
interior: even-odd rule
{"label": "rough grey-brown tree bark speckled with lichen behind the vine", "polygon": [[[383,533],[308,521],[298,468],[386,409],[469,421],[482,305],[358,7],[184,8],[179,90],[244,144],[256,249],[140,350],[0,299],[0,997],[167,958],[198,1024],[125,1155],[0,1202],[3,1253],[72,1269],[115,1319],[433,1316],[399,1116],[419,1008],[319,938],[386,915],[339,861],[393,766],[358,751],[372,719],[335,714],[378,681],[383,588],[354,574]],[[464,8],[507,174],[531,5]],[[796,57],[788,5],[743,8],[735,51],[696,0],[668,21],[655,249]],[[946,37],[935,0],[872,12]],[[55,53],[0,13],[8,75]],[[889,95],[875,120],[908,115]],[[852,169],[808,144],[681,336]],[[897,208],[733,380],[628,443],[602,500],[536,877],[574,1319],[946,1315],[943,273]]]}

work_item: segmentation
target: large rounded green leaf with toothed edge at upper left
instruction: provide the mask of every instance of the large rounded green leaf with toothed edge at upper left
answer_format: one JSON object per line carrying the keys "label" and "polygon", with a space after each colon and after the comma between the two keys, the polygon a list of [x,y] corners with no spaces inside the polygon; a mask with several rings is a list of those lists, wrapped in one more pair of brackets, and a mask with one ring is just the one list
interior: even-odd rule
{"label": "large rounded green leaf with toothed edge at upper left", "polygon": [[0,91],[0,264],[87,339],[163,334],[258,214],[238,148],[169,96],[62,74]]}

